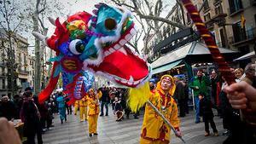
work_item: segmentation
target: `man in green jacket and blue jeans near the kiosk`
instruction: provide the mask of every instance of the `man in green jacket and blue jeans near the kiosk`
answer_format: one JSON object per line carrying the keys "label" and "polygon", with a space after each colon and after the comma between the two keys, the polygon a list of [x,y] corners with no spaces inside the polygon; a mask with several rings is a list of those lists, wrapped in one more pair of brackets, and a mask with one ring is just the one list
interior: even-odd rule
{"label": "man in green jacket and blue jeans near the kiosk", "polygon": [[[200,104],[199,104],[199,94],[207,94],[207,86],[210,85],[210,82],[206,76],[203,75],[201,70],[198,70],[196,76],[191,79],[189,83],[189,88],[194,89],[194,98],[195,98],[195,124],[200,123]],[[206,95],[206,99],[210,100],[209,96]]]}

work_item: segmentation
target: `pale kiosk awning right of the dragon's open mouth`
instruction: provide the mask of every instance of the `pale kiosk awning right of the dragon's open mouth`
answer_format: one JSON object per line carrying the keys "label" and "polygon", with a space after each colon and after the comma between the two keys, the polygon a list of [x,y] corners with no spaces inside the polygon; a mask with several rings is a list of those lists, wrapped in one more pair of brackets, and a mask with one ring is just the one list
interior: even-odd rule
{"label": "pale kiosk awning right of the dragon's open mouth", "polygon": [[[218,49],[220,53],[224,55],[226,60],[233,60],[238,54],[238,51],[224,48]],[[153,74],[168,71],[172,69],[172,67],[177,66],[182,60],[185,60],[186,62],[212,62],[212,56],[204,43],[187,43],[178,49],[172,50],[166,55],[162,55],[159,59],[154,60],[151,64]]]}

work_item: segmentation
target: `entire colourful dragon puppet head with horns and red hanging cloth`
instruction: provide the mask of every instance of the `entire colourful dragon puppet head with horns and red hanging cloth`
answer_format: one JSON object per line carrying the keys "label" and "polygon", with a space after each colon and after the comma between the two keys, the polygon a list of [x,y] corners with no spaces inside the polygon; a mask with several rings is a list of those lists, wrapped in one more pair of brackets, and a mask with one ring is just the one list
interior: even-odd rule
{"label": "entire colourful dragon puppet head with horns and red hanging cloth", "polygon": [[[94,15],[79,12],[63,23],[54,21],[55,33],[44,37],[56,57],[49,84],[40,94],[45,101],[61,74],[64,92],[72,101],[79,100],[90,89],[94,78],[90,72],[115,83],[135,88],[150,77],[151,68],[140,55],[125,45],[137,33],[131,12],[124,8],[96,4]],[[89,70],[90,72],[87,72]]]}

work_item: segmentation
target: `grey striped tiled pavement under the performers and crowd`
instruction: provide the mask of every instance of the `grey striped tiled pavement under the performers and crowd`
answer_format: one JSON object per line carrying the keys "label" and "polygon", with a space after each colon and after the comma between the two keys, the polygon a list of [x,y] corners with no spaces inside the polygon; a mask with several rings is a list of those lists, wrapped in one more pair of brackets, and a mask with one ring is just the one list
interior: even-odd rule
{"label": "grey striped tiled pavement under the performers and crowd", "polygon": [[[77,116],[67,115],[67,123],[61,124],[59,116],[55,115],[54,130],[49,130],[43,135],[44,143],[46,144],[110,144],[122,143],[132,144],[139,143],[139,135],[141,125],[143,123],[143,114],[139,119],[134,119],[130,115],[130,119],[116,122],[113,112],[109,112],[108,117],[99,117],[98,119],[98,136],[88,136],[88,123],[79,122],[79,114]],[[142,112],[141,112],[142,113]],[[190,112],[193,113],[193,112]],[[225,137],[204,136],[204,124],[195,124],[193,114],[181,118],[181,130],[183,139],[187,144],[221,144]],[[223,130],[222,119],[214,117],[219,134]],[[182,144],[177,137],[172,134],[172,144]]]}

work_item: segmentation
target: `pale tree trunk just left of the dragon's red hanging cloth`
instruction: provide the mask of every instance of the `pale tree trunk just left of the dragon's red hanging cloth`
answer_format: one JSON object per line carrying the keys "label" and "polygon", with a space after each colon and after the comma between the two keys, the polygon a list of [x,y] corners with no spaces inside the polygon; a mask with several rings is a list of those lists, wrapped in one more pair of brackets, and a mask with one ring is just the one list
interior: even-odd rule
{"label": "pale tree trunk just left of the dragon's red hanging cloth", "polygon": [[[38,25],[38,9],[35,10],[33,16],[32,16],[32,20],[33,20],[33,32],[38,32],[39,30],[39,25]],[[35,85],[34,85],[34,89],[35,89],[35,95],[38,96],[39,92],[40,92],[40,78],[41,78],[41,61],[40,61],[40,41],[35,38]]]}

